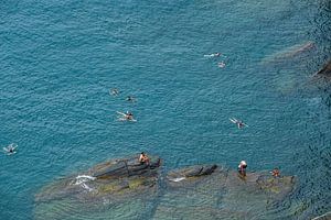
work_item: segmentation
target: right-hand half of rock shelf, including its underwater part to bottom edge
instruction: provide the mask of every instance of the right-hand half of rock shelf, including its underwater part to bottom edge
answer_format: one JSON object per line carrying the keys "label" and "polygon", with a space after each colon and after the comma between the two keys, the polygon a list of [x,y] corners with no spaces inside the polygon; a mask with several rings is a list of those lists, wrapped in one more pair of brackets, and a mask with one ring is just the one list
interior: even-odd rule
{"label": "right-hand half of rock shelf, including its underwater part to bottom edge", "polygon": [[290,215],[281,202],[295,188],[293,176],[273,177],[268,172],[243,176],[217,166],[210,175],[185,177],[199,173],[201,167],[168,174],[170,187],[160,198],[153,219],[275,219],[278,209],[279,219]]}

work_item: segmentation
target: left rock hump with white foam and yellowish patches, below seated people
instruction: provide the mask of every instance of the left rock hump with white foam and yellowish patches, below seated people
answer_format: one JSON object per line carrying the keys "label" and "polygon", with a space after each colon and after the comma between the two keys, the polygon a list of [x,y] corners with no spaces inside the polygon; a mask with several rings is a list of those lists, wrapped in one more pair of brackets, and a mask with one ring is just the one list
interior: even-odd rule
{"label": "left rock hump with white foam and yellowish patches, below seated people", "polygon": [[46,186],[35,199],[46,201],[71,197],[90,200],[151,190],[156,187],[160,165],[159,157],[151,157],[150,165],[140,164],[138,156],[109,161],[96,165],[84,175],[73,175]]}

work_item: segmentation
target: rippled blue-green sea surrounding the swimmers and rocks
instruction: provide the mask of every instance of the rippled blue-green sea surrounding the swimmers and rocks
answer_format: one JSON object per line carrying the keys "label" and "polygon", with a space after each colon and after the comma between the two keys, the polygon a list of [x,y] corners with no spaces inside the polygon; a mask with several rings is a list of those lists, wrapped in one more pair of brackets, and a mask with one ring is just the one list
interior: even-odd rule
{"label": "rippled blue-green sea surrounding the swimmers and rocks", "polygon": [[290,218],[331,211],[331,84],[311,77],[330,18],[328,0],[2,1],[0,146],[18,151],[0,155],[0,219],[34,219],[43,186],[141,151],[166,172],[277,166],[299,179]]}

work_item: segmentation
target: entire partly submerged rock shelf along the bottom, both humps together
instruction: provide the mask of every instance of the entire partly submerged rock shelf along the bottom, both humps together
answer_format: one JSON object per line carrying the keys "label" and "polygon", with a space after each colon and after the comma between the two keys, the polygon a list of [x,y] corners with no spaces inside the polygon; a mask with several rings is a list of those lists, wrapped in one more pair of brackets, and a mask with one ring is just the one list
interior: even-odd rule
{"label": "entire partly submerged rock shelf along the bottom, both humps together", "polygon": [[137,158],[106,162],[49,185],[35,197],[35,219],[137,219],[140,213],[148,219],[264,219],[280,209],[296,185],[292,176],[243,176],[215,164],[163,177],[159,157],[151,157],[150,166]]}

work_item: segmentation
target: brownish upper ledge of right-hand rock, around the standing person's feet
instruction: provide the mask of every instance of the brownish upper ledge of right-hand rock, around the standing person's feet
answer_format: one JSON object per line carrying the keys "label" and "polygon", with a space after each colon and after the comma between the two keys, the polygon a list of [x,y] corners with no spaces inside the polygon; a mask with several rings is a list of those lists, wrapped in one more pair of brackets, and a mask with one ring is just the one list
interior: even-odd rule
{"label": "brownish upper ledge of right-hand rock, around the standing person's feet", "polygon": [[[215,164],[196,165],[173,170],[167,175],[167,179],[170,186],[185,187],[190,186],[190,183],[196,182],[205,182],[205,184],[209,184],[207,180],[214,179],[214,176],[220,177],[216,183],[213,183],[214,186],[218,185],[228,190],[244,186],[241,191],[254,190],[256,193],[273,196],[274,198],[282,198],[288,195],[295,186],[293,176],[274,177],[268,172],[247,173],[243,176],[235,170],[218,167]],[[209,186],[205,185],[205,187],[207,188]]]}

